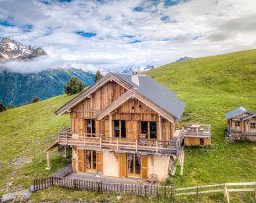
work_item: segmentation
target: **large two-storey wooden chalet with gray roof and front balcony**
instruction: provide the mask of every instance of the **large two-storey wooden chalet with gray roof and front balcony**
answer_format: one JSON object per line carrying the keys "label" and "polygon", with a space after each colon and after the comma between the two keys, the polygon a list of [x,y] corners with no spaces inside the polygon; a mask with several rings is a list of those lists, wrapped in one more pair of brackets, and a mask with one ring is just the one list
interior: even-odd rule
{"label": "large two-storey wooden chalet with gray roof and front balcony", "polygon": [[[183,135],[177,121],[185,104],[149,76],[109,73],[59,108],[70,114],[71,129],[57,145],[72,148],[73,172],[104,176],[168,177],[180,155]],[[47,153],[48,167],[49,153]]]}

